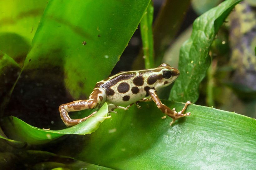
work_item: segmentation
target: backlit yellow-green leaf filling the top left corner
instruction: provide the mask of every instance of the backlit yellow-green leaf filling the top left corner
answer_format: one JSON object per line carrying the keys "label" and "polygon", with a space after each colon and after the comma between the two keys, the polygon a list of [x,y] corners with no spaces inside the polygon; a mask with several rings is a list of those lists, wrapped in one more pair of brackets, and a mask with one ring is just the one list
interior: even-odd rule
{"label": "backlit yellow-green leaf filling the top left corner", "polygon": [[23,66],[47,0],[0,3],[0,50]]}

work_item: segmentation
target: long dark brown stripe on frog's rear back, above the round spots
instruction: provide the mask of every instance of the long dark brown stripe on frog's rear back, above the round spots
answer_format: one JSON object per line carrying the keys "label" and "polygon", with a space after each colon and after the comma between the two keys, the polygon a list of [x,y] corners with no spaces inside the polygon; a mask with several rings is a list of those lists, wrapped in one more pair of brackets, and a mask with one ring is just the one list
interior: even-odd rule
{"label": "long dark brown stripe on frog's rear back, above the round spots", "polygon": [[104,83],[103,85],[101,85],[101,87],[106,89],[106,93],[107,95],[114,95],[115,91],[111,89],[111,87],[113,85],[116,85],[118,82],[122,81],[122,80],[128,80],[132,77],[134,77],[136,75],[136,72],[129,72],[127,73],[122,73],[120,75],[116,75],[115,77],[111,78],[110,80],[108,80],[106,83]]}

